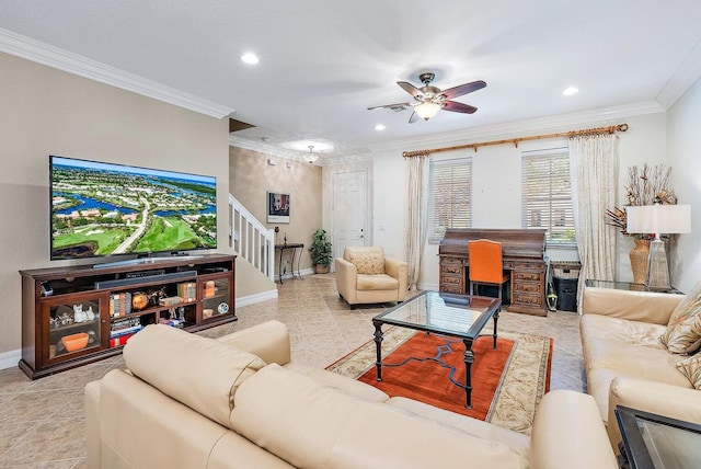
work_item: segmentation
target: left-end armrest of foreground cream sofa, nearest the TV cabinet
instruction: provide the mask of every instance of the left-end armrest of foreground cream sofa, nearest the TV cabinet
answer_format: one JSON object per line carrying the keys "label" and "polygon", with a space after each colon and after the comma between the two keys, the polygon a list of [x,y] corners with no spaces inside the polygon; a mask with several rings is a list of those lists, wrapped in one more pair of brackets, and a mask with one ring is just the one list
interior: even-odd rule
{"label": "left-end armrest of foreground cream sofa, nearest the TV cabinet", "polygon": [[263,322],[222,335],[218,340],[240,351],[252,353],[266,364],[277,363],[281,366],[291,359],[289,331],[287,325],[279,321]]}

